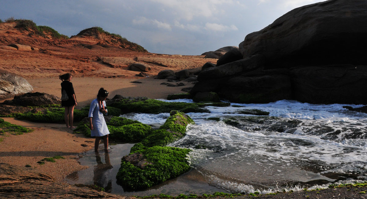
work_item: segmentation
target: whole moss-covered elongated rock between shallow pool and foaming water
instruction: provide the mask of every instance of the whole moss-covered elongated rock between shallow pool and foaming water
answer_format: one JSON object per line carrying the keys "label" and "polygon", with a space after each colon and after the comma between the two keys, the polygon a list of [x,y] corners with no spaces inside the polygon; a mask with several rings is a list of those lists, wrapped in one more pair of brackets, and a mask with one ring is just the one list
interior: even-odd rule
{"label": "whole moss-covered elongated rock between shallow pool and foaming water", "polygon": [[165,146],[185,135],[194,121],[186,114],[171,111],[166,122],[121,160],[117,182],[126,190],[146,189],[190,170],[186,156],[190,149]]}

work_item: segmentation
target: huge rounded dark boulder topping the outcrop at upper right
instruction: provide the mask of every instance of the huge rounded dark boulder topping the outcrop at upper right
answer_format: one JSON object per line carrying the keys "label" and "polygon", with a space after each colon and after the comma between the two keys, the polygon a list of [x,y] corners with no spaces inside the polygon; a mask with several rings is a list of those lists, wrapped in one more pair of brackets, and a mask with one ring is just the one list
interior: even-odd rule
{"label": "huge rounded dark boulder topping the outcrop at upper right", "polygon": [[248,34],[239,50],[266,57],[269,68],[295,65],[366,64],[367,3],[329,0],[291,10]]}

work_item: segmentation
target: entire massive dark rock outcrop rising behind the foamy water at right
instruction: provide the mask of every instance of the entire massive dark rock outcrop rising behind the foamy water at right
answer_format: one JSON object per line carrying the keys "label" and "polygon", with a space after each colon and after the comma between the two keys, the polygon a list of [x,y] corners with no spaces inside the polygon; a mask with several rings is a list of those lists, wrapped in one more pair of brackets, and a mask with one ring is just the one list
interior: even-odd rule
{"label": "entire massive dark rock outcrop rising behind the foamy water at right", "polygon": [[202,70],[190,93],[241,103],[367,104],[366,23],[366,1],[296,8],[247,35],[242,59]]}

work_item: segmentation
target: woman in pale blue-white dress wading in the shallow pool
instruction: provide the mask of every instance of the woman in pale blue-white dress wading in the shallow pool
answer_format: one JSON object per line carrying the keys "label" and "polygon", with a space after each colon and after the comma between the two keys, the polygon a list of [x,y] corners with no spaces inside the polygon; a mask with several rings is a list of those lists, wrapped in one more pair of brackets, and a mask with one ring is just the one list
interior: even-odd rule
{"label": "woman in pale blue-white dress wading in the shallow pool", "polygon": [[108,134],[110,134],[104,115],[107,115],[106,98],[108,92],[104,88],[100,88],[97,94],[97,99],[94,99],[89,108],[89,124],[91,129],[91,136],[95,136],[94,151],[98,152],[98,145],[101,138],[105,145],[105,151],[108,152]]}

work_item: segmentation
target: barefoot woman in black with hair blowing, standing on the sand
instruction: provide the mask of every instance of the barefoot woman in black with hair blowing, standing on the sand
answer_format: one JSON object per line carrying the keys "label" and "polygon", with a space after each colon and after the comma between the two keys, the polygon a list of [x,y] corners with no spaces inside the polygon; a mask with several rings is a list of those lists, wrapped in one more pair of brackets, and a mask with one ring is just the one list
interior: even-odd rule
{"label": "barefoot woman in black with hair blowing, standing on the sand", "polygon": [[74,120],[74,107],[78,104],[76,102],[75,92],[73,88],[73,84],[70,82],[72,76],[70,73],[66,73],[59,76],[59,79],[62,80],[61,83],[61,94],[65,90],[68,95],[68,100],[61,100],[61,106],[65,107],[65,123],[66,127],[73,129],[73,120]]}

